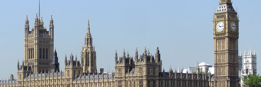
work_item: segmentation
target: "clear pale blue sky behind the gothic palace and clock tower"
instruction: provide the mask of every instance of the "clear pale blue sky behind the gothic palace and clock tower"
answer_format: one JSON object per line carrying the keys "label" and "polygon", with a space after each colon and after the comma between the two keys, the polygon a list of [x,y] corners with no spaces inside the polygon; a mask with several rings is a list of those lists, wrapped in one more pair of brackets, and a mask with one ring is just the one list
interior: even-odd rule
{"label": "clear pale blue sky behind the gothic palace and clock tower", "polygon": [[[64,71],[65,53],[80,57],[90,17],[90,32],[97,52],[97,70],[114,70],[114,53],[123,49],[133,56],[137,46],[139,55],[144,46],[155,54],[159,46],[165,71],[193,67],[197,62],[214,63],[213,14],[219,0],[42,0],[44,26],[54,20],[56,48],[60,68]],[[24,57],[24,22],[28,14],[30,29],[38,12],[37,0],[0,3],[0,78],[16,76],[17,60]],[[260,0],[233,0],[239,14],[238,50],[248,52],[249,44],[257,54],[260,74]],[[240,53],[240,52],[239,52]],[[67,56],[68,56],[67,55]]]}

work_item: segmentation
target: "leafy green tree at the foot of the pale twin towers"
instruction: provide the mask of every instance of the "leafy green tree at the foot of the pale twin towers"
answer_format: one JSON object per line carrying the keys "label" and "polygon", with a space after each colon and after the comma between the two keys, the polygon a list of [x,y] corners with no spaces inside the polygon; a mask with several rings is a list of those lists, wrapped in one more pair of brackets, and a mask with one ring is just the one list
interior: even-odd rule
{"label": "leafy green tree at the foot of the pale twin towers", "polygon": [[261,76],[259,75],[245,75],[242,77],[243,87],[261,87]]}

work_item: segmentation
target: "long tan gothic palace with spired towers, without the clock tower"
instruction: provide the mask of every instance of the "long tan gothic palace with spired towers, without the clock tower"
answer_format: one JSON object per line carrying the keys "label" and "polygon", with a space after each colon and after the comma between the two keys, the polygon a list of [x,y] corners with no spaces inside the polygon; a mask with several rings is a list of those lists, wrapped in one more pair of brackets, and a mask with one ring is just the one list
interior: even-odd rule
{"label": "long tan gothic palace with spired towers, without the clock tower", "polygon": [[[29,31],[29,21],[25,24],[25,59],[17,63],[17,79],[1,80],[0,87],[207,87],[207,72],[199,74],[199,68],[192,74],[162,72],[162,60],[157,47],[155,58],[149,50],[135,60],[125,50],[122,57],[115,53],[115,73],[100,73],[96,69],[96,51],[92,46],[92,37],[88,21],[85,45],[78,61],[77,56],[65,55],[64,72],[59,70],[57,52],[53,52],[53,20],[49,30],[43,27],[43,21],[35,18],[35,28]],[[52,53],[53,52],[53,53]],[[75,59],[74,59],[75,58]]]}

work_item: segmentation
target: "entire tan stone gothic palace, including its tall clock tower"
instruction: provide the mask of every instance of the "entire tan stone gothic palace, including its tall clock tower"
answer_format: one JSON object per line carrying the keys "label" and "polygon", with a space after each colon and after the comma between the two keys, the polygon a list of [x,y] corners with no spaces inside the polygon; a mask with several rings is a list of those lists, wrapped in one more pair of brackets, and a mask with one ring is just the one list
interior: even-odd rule
{"label": "entire tan stone gothic palace, including its tall clock tower", "polygon": [[26,15],[24,60],[17,62],[17,79],[10,75],[9,80],[0,81],[0,87],[239,87],[238,71],[242,68],[242,55],[240,53],[240,67],[238,22],[231,0],[220,0],[213,16],[213,74],[207,72],[207,67],[202,71],[198,65],[192,73],[188,73],[188,70],[182,73],[180,69],[172,68],[165,71],[158,47],[155,55],[151,55],[146,47],[139,55],[136,48],[134,58],[125,50],[118,57],[116,50],[115,72],[104,72],[103,68],[98,72],[89,20],[80,58],[72,54],[67,58],[65,54],[65,68],[62,71],[54,49],[52,15],[49,31],[44,28],[44,22],[37,13],[34,28],[30,29]]}

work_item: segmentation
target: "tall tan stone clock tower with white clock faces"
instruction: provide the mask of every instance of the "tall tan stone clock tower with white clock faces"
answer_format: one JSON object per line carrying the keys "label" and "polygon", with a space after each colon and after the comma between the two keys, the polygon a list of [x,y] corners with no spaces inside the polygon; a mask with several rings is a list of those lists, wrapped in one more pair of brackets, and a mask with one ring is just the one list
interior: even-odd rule
{"label": "tall tan stone clock tower with white clock faces", "polygon": [[231,0],[220,0],[213,17],[215,87],[238,87],[238,16]]}

